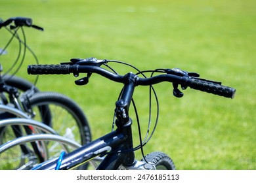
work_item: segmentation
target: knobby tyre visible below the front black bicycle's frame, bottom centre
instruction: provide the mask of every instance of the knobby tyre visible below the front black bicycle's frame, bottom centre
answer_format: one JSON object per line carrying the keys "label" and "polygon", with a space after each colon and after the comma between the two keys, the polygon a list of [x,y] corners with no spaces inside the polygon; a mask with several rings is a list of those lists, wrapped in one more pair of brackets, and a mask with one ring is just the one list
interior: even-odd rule
{"label": "knobby tyre visible below the front black bicycle's frame, bottom centre", "polygon": [[[157,170],[175,170],[173,160],[163,152],[151,152],[145,158],[148,163],[153,163]],[[144,161],[142,159],[142,161]]]}

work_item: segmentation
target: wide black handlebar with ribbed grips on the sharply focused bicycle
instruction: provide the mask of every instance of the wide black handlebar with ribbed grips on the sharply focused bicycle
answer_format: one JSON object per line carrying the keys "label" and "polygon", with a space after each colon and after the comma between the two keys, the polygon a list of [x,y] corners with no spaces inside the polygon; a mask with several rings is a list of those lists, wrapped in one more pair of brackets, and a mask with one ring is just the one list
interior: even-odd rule
{"label": "wide black handlebar with ribbed grips on the sharply focused bicycle", "polygon": [[[114,74],[106,69],[93,65],[29,65],[28,74],[30,75],[68,75],[73,73],[78,76],[79,73],[97,73],[115,82],[124,82],[125,76]],[[173,82],[181,84],[184,88],[190,87],[194,90],[213,93],[227,98],[234,98],[236,90],[228,86],[222,86],[216,82],[194,78],[190,76],[178,76],[171,74],[162,74],[150,78],[136,78],[136,86],[150,86],[160,82]]]}

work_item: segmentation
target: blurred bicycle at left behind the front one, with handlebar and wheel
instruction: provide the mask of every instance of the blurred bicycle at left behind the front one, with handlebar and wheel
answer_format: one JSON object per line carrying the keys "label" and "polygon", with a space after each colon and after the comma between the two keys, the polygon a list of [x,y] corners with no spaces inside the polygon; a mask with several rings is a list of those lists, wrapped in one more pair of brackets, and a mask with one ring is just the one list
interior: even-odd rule
{"label": "blurred bicycle at left behind the front one, with handlebar and wheel", "polygon": [[[74,137],[75,141],[81,144],[86,144],[87,142],[91,141],[89,123],[85,114],[83,113],[83,110],[81,110],[81,108],[75,103],[75,101],[65,95],[56,92],[38,93],[39,89],[35,86],[38,77],[32,84],[24,78],[14,76],[24,63],[26,50],[28,50],[32,54],[35,62],[37,64],[39,63],[37,56],[27,44],[26,34],[23,27],[33,27],[40,31],[43,31],[43,28],[34,25],[32,18],[26,17],[13,17],[5,21],[0,20],[0,29],[1,27],[7,29],[7,31],[11,33],[12,36],[7,44],[4,46],[4,48],[0,51],[0,55],[6,52],[7,48],[10,46],[11,42],[14,39],[16,39],[19,43],[18,56],[12,64],[12,67],[1,75],[1,80],[3,80],[3,82],[5,83],[4,86],[9,86],[9,88],[17,88],[18,91],[16,91],[16,95],[17,92],[23,93],[27,91],[24,95],[20,97],[20,103],[22,103],[22,107],[24,108],[25,112],[30,113],[30,115],[33,116],[34,120],[43,121],[45,124],[54,127],[54,129],[58,131],[60,135],[64,135],[66,133],[66,130],[73,131],[71,132],[72,135],[77,134]],[[18,34],[18,31],[20,30],[22,32],[22,36]],[[14,69],[14,65],[18,65],[18,67]],[[12,69],[14,69],[14,72],[9,75]],[[32,113],[40,115],[34,115]],[[60,116],[60,114],[62,115]],[[66,121],[68,120],[69,124],[67,124],[64,119],[66,119]],[[64,132],[62,132],[63,130]]]}

